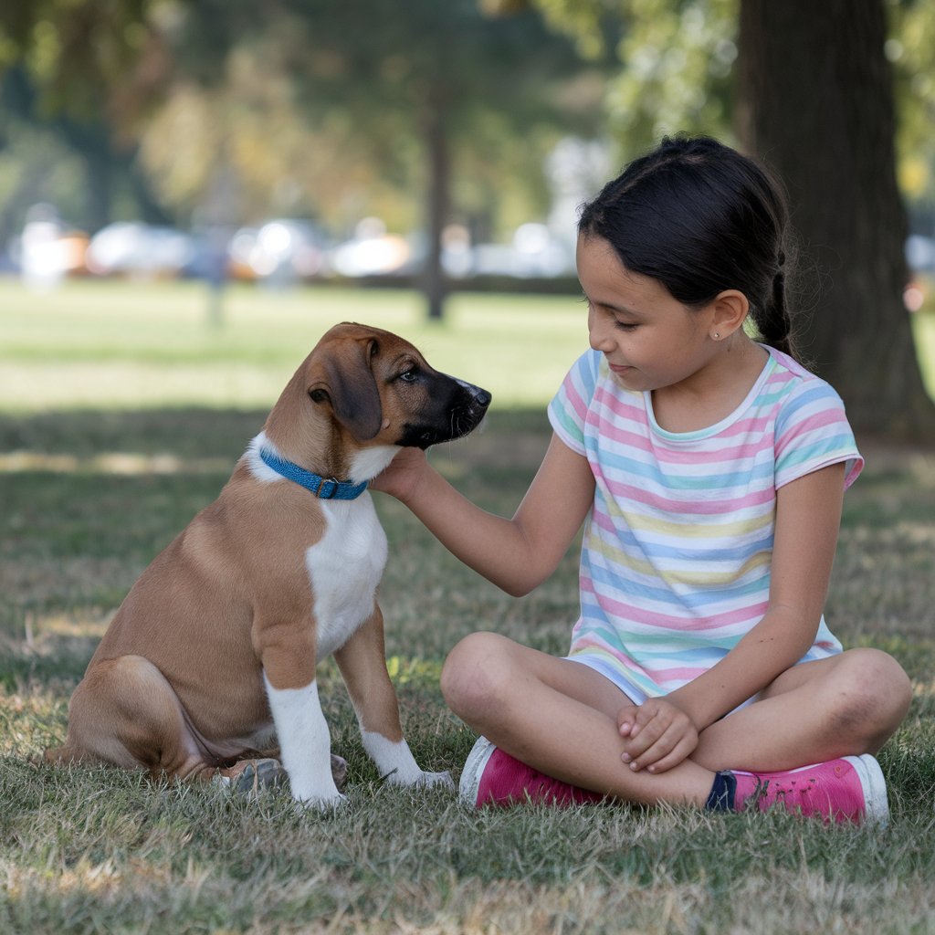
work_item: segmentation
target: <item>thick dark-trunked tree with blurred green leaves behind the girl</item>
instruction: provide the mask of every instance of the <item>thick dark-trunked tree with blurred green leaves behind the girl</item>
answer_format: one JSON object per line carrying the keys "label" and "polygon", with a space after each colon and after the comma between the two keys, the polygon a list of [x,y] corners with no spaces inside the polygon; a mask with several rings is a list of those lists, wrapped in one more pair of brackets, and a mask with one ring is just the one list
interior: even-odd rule
{"label": "thick dark-trunked tree with blurred green leaves behind the girl", "polygon": [[687,130],[732,138],[778,172],[799,238],[793,285],[807,312],[799,343],[810,365],[841,393],[858,429],[935,436],[902,298],[908,224],[897,183],[899,165],[918,223],[931,233],[935,7],[536,2],[585,51],[599,46],[607,16],[625,22],[609,119],[627,156]]}

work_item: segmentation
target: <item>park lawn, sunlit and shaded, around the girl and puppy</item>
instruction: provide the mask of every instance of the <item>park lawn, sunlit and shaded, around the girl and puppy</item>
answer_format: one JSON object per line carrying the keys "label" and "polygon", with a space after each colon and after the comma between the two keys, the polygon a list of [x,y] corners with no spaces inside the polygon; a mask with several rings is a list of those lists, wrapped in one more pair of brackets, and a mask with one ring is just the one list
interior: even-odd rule
{"label": "park lawn, sunlit and shaded, around the girl and puppy", "polygon": [[[429,327],[407,294],[244,290],[221,332],[203,303],[194,286],[80,283],[36,299],[0,282],[0,931],[935,930],[935,455],[870,439],[845,500],[828,620],[913,679],[913,708],[881,754],[884,832],[680,809],[476,813],[450,793],[394,790],[367,761],[330,662],[325,714],[350,766],[340,813],[33,765],[64,737],[67,699],[122,596],[216,496],[326,324],[403,331],[495,393],[487,430],[433,457],[501,512],[538,464],[544,401],[584,339],[568,299],[461,297],[450,322]],[[482,627],[563,652],[576,556],[514,600],[396,502],[379,509],[388,666],[407,733],[426,769],[456,776],[474,738],[440,698],[445,654]]]}

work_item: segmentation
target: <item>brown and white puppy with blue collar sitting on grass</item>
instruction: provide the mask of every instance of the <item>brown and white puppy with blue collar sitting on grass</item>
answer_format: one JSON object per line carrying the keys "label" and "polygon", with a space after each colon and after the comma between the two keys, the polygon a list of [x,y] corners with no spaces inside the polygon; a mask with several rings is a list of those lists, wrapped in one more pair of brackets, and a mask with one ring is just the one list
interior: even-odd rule
{"label": "brown and white puppy with blue collar sitting on grass", "polygon": [[221,496],[123,601],[47,759],[231,777],[278,742],[293,797],[337,802],[315,681],[334,654],[381,775],[451,784],[419,768],[400,729],[376,602],[386,535],[366,482],[403,446],[467,435],[489,403],[403,338],[328,331]]}

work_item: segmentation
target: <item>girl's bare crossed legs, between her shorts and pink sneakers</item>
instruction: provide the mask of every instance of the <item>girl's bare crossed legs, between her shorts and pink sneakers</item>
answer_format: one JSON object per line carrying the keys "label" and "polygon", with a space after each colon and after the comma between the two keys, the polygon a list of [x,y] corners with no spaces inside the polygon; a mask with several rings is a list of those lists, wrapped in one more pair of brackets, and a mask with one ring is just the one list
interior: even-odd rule
{"label": "girl's bare crossed legs, between her shorts and pink sneakers", "polygon": [[678,766],[652,774],[622,761],[616,714],[628,699],[586,666],[475,633],[449,655],[441,686],[469,726],[547,776],[630,802],[698,806],[710,800],[720,770],[795,770],[875,753],[910,699],[908,679],[884,653],[851,650],[803,663],[701,731]]}

